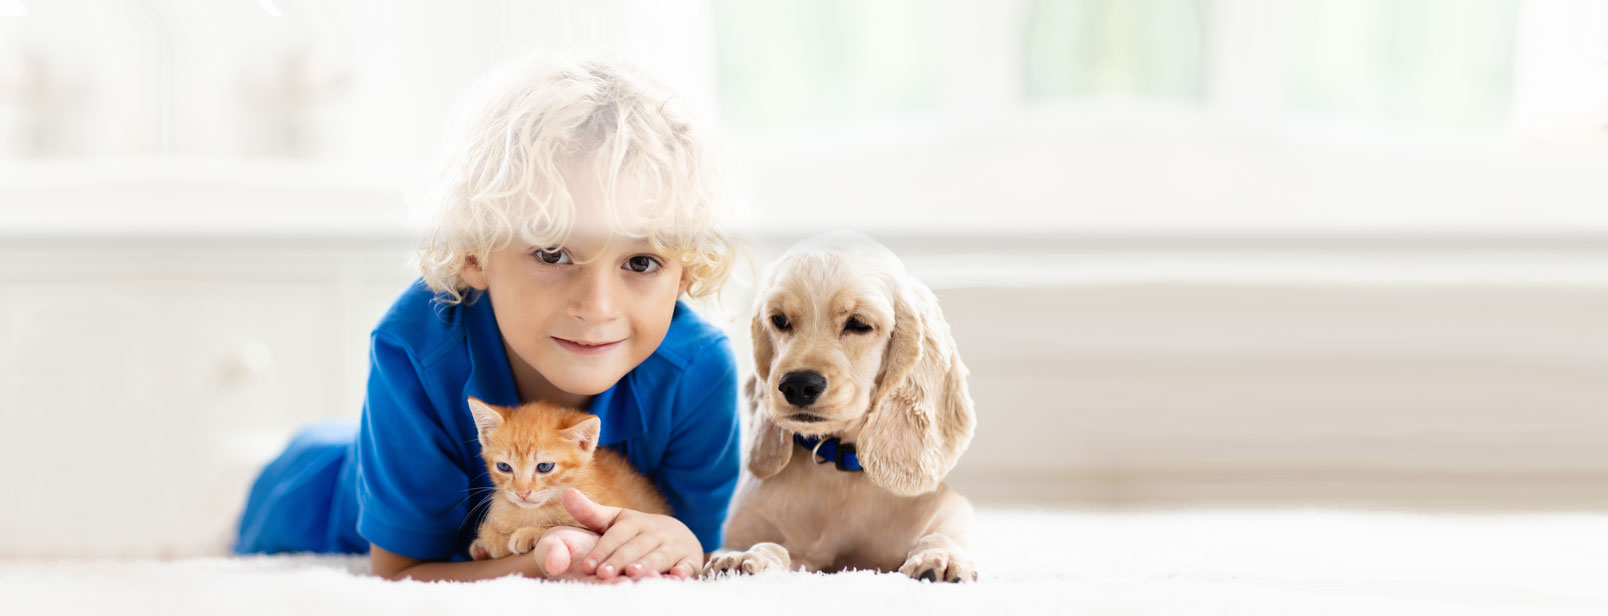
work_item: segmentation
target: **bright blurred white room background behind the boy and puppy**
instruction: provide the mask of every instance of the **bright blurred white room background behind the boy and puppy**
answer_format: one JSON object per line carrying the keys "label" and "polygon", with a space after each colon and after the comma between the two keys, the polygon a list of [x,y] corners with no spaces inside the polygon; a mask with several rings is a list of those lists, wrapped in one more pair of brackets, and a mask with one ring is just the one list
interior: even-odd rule
{"label": "bright blurred white room background behind the boy and puppy", "polygon": [[442,121],[532,50],[685,97],[761,267],[859,228],[934,286],[981,507],[1608,510],[1600,2],[0,14],[0,558],[217,553],[357,417]]}

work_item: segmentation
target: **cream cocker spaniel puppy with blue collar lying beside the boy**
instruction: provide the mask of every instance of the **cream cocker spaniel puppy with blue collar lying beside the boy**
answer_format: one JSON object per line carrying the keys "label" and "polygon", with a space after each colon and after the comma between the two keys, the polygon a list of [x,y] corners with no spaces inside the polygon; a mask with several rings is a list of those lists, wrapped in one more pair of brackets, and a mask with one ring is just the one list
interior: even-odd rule
{"label": "cream cocker spaniel puppy with blue collar lying beside the boy", "polygon": [[748,470],[711,574],[899,571],[974,581],[966,367],[925,285],[863,235],[799,243],[754,306]]}

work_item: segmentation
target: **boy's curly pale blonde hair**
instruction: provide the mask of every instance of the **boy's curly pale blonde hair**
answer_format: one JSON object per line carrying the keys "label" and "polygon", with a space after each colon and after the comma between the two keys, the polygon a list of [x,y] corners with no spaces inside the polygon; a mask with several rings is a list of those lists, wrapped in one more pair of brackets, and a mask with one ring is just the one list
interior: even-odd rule
{"label": "boy's curly pale blonde hair", "polygon": [[[609,232],[679,261],[690,298],[717,293],[736,257],[720,224],[725,191],[675,103],[642,72],[600,60],[532,56],[471,87],[428,198],[425,283],[457,304],[470,257],[484,262],[515,238],[563,246],[577,214],[571,187],[593,180],[603,203],[584,206]],[[593,177],[572,175],[584,172]]]}

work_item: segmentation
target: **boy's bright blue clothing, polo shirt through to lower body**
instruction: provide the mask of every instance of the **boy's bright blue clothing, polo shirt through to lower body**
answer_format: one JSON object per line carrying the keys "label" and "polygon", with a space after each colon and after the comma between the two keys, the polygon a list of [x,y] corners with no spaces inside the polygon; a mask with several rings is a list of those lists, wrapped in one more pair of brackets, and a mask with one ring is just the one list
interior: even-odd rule
{"label": "boy's bright blue clothing, polo shirt through to lower body", "polygon": [[[304,429],[252,486],[236,553],[367,552],[466,560],[495,491],[466,399],[518,405],[492,302],[410,286],[375,328],[359,425]],[[698,536],[720,545],[736,487],[736,365],[727,336],[675,304],[659,347],[587,410]]]}

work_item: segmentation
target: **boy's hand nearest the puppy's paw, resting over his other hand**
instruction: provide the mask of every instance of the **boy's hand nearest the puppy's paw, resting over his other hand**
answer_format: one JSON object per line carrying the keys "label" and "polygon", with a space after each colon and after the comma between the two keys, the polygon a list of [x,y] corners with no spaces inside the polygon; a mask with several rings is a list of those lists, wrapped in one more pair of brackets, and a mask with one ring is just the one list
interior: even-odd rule
{"label": "boy's hand nearest the puppy's paw, resting over his other hand", "polygon": [[688,579],[703,568],[703,545],[680,519],[598,505],[577,489],[564,491],[563,499],[576,521],[603,534],[580,560],[585,574],[603,581],[621,574]]}

